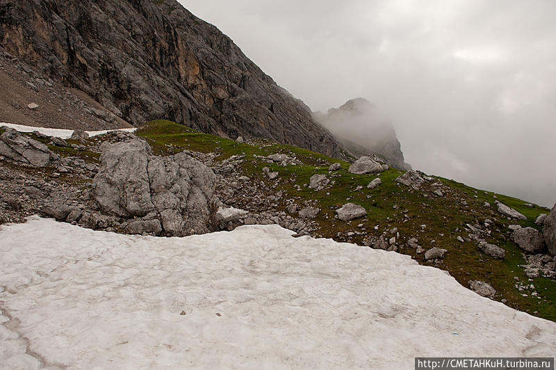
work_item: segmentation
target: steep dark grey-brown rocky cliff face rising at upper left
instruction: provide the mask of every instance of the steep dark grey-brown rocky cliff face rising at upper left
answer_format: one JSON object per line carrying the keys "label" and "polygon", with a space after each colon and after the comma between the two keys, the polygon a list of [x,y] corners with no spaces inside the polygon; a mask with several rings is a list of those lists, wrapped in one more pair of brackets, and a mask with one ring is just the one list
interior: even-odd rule
{"label": "steep dark grey-brown rocky cliff face rising at upper left", "polygon": [[0,42],[135,125],[165,118],[341,155],[307,106],[175,0],[0,0]]}

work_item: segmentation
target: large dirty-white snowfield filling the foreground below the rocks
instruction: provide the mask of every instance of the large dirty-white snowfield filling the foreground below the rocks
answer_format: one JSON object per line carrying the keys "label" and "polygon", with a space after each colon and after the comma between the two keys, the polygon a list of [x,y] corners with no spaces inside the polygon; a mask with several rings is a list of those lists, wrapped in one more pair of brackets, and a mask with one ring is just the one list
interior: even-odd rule
{"label": "large dirty-white snowfield filling the foreground below the rocks", "polygon": [[439,269],[291,234],[3,225],[0,368],[413,369],[415,356],[556,353],[556,323]]}

